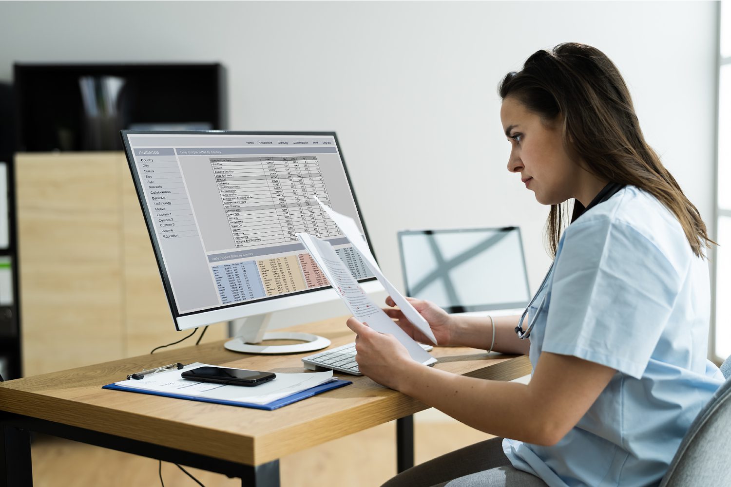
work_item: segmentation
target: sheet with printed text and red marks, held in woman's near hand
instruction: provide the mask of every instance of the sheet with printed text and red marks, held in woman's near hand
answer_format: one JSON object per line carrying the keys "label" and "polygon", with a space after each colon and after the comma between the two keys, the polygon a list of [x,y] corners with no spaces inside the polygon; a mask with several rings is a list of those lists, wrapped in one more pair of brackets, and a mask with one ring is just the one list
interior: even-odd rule
{"label": "sheet with printed text and red marks, held in woman's near hand", "polygon": [[324,242],[310,234],[300,233],[297,234],[297,237],[355,318],[368,323],[368,326],[376,331],[393,334],[396,340],[406,347],[409,355],[420,364],[436,362],[436,358],[414,342],[412,337],[409,337],[406,331],[394,323],[366,294],[366,291],[363,291],[329,242]]}

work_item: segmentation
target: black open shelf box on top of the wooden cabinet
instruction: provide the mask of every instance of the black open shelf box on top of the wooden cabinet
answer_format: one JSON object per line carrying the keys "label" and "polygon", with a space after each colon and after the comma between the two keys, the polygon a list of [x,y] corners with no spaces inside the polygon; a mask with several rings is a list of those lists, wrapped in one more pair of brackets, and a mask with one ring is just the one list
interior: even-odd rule
{"label": "black open shelf box on top of the wooden cabinet", "polygon": [[[107,107],[102,81],[112,77],[121,85]],[[227,128],[218,63],[15,63],[14,85],[18,152],[122,150],[121,129]],[[91,100],[101,111],[89,110]]]}

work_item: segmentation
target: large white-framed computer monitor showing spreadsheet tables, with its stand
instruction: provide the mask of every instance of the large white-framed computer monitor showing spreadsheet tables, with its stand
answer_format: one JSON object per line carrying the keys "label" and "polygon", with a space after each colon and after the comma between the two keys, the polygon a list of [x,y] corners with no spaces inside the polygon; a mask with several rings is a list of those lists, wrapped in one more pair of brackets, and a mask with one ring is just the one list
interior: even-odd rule
{"label": "large white-framed computer monitor showing spreadsheet tables, with its stand", "polygon": [[[312,198],[352,217],[371,246],[334,132],[121,136],[178,330],[249,317],[226,348],[290,353],[329,345],[309,334],[264,335],[272,312],[338,299],[298,232],[329,241],[366,291],[382,289]],[[251,345],[275,338],[305,342]]]}

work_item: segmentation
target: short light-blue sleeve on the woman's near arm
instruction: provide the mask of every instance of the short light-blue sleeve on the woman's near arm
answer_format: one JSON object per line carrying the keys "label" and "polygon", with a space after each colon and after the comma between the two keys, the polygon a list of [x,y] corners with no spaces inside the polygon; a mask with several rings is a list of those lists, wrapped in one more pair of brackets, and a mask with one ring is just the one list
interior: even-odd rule
{"label": "short light-blue sleeve on the woman's near arm", "polygon": [[556,258],[542,350],[639,379],[680,289],[681,275],[637,229],[577,221]]}

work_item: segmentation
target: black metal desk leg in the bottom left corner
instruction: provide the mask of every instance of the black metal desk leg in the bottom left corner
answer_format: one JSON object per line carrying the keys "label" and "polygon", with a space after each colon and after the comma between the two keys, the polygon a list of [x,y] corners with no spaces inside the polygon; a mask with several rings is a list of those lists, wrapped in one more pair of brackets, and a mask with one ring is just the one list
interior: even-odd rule
{"label": "black metal desk leg in the bottom left corner", "polygon": [[0,486],[33,486],[31,432],[7,425],[0,425],[0,428]]}

